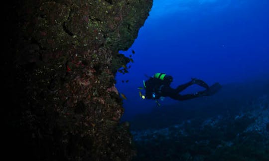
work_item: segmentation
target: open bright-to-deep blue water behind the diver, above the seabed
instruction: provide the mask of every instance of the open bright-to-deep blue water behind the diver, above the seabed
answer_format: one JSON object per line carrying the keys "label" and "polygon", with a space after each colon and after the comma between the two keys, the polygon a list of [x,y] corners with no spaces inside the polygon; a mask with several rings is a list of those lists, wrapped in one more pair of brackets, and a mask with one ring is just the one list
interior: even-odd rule
{"label": "open bright-to-deep blue water behind the diver, above the seabed", "polygon": [[[134,59],[129,73],[116,76],[127,97],[123,121],[156,106],[139,97],[145,74],[172,75],[172,87],[192,77],[209,85],[269,78],[269,0],[153,0],[133,46],[120,53]],[[161,105],[176,102],[165,98]]]}

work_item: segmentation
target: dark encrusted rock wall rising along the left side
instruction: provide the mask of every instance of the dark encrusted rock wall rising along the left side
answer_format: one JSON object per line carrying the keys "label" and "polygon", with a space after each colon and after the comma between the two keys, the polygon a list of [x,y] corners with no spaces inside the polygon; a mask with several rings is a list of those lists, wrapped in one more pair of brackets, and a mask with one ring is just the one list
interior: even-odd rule
{"label": "dark encrusted rock wall rising along the left side", "polygon": [[[1,59],[10,159],[128,161],[115,73],[152,0],[21,0],[5,6]],[[7,154],[7,153],[6,153]]]}

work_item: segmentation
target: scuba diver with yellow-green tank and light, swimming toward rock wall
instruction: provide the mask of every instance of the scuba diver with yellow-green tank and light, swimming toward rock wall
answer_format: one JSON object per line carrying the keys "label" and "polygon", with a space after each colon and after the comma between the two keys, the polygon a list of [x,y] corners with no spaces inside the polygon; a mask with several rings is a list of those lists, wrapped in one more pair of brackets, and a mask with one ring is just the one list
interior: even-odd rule
{"label": "scuba diver with yellow-green tank and light, swimming toward rock wall", "polygon": [[[196,78],[192,78],[191,81],[179,85],[177,88],[171,88],[170,84],[173,81],[173,77],[170,75],[166,75],[164,73],[155,73],[153,77],[150,77],[148,80],[143,80],[143,88],[138,89],[144,89],[145,95],[142,95],[142,93],[139,91],[139,95],[142,99],[153,99],[156,100],[156,103],[159,106],[159,103],[157,102],[158,99],[163,100],[164,97],[170,97],[175,100],[189,100],[197,97],[202,96],[210,96],[214,95],[221,89],[221,85],[219,83],[215,83],[212,86],[208,86],[204,81]],[[196,92],[194,94],[186,94],[186,95],[180,95],[179,92],[183,91],[187,87],[197,84],[205,90]]]}

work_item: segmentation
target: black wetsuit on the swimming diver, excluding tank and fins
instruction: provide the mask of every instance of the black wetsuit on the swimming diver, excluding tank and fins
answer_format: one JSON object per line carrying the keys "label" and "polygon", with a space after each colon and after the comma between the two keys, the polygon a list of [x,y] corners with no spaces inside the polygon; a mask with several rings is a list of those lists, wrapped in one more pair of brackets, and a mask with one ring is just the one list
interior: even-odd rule
{"label": "black wetsuit on the swimming diver, excluding tank and fins", "polygon": [[[199,80],[201,81],[201,80]],[[202,81],[203,82],[203,81]],[[161,84],[161,80],[156,78],[150,78],[145,82],[146,85],[146,98],[147,99],[159,99],[160,97],[170,97],[175,100],[188,100],[196,97],[200,97],[203,95],[204,91],[197,92],[195,94],[186,94],[186,95],[180,95],[179,92],[183,91],[187,87],[195,84],[194,81],[190,81],[188,83],[185,83],[183,85],[179,85],[177,88],[171,88],[170,83],[169,84]],[[209,88],[209,86],[204,83],[204,88]],[[153,97],[153,95],[155,97]]]}

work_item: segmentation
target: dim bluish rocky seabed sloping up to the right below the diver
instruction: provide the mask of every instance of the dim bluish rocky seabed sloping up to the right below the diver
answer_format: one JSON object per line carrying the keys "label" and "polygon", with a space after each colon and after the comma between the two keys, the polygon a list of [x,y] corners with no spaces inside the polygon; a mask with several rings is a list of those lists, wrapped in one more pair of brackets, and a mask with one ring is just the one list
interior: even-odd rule
{"label": "dim bluish rocky seabed sloping up to the right below the diver", "polygon": [[269,95],[238,109],[237,114],[132,131],[134,161],[269,161]]}

